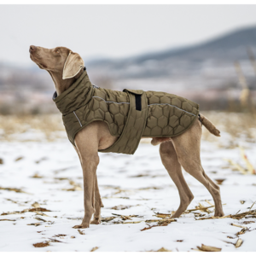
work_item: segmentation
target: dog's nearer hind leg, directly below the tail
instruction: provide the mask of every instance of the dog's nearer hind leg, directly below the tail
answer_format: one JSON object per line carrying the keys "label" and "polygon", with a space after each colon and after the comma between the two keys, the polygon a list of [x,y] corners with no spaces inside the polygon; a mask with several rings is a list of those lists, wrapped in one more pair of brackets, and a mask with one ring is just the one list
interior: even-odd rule
{"label": "dog's nearer hind leg, directly below the tail", "polygon": [[200,146],[201,146],[201,124],[195,121],[188,131],[182,135],[173,137],[172,142],[177,152],[177,158],[186,172],[201,182],[212,195],[215,204],[215,217],[224,216],[219,187],[207,177],[201,166]]}

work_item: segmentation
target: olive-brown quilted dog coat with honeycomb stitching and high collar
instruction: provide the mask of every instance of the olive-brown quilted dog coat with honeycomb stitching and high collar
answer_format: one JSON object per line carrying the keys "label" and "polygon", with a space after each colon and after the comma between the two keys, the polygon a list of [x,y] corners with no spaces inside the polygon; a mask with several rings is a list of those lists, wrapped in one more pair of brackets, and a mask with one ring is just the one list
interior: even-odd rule
{"label": "olive-brown quilted dog coat with honeycomb stitching and high collar", "polygon": [[193,124],[199,105],[160,91],[108,90],[90,83],[86,71],[53,100],[62,113],[67,137],[73,145],[76,134],[96,120],[108,124],[113,145],[100,152],[134,154],[141,137],[174,137]]}

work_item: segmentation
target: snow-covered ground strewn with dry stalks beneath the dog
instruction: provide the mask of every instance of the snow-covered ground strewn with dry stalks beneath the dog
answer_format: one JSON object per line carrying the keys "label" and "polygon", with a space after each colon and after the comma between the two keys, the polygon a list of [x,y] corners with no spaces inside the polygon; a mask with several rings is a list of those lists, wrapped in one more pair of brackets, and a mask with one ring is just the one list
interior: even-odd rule
{"label": "snow-covered ground strewn with dry stalks beneath the dog", "polygon": [[[256,166],[256,145],[244,143],[243,147]],[[200,220],[212,216],[212,197],[186,172],[183,175],[195,195],[188,209],[201,204],[210,207],[208,212],[185,212],[166,226],[146,222],[161,219],[155,216],[157,212],[171,213],[179,206],[177,189],[158,150],[141,143],[134,155],[100,154],[97,177],[104,204],[102,224],[76,230],[73,226],[84,216],[82,171],[67,139],[0,142],[0,251],[157,251],[164,247],[193,252],[201,244],[222,252],[256,251],[256,218]],[[225,215],[247,212],[256,201],[256,175],[235,172],[224,159],[242,165],[239,148],[202,141],[201,160],[207,175],[212,180],[224,179],[219,186]],[[241,226],[247,230],[239,235]],[[241,247],[235,247],[239,238]],[[33,246],[40,242],[46,246]]]}

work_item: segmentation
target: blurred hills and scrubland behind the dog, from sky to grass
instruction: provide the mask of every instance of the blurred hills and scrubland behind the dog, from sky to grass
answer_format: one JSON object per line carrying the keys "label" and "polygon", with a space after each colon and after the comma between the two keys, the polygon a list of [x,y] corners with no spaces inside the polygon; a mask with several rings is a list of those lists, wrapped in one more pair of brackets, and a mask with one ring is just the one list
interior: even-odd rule
{"label": "blurred hills and scrubland behind the dog, from sky to grass", "polygon": [[[200,103],[201,109],[226,109],[239,102],[234,61],[239,61],[256,101],[256,77],[247,48],[256,55],[256,26],[237,29],[188,47],[166,49],[123,59],[85,61],[92,83],[112,90],[159,90]],[[0,60],[1,61],[1,60]],[[57,112],[49,73],[36,65],[0,62],[0,113]]]}

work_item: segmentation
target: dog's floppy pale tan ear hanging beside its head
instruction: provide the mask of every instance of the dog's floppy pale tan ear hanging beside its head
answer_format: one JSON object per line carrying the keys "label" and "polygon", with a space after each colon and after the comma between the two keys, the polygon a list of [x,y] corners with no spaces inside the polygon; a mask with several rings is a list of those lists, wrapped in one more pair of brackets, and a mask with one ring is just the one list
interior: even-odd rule
{"label": "dog's floppy pale tan ear hanging beside its head", "polygon": [[79,71],[83,67],[84,61],[81,56],[77,53],[70,51],[63,67],[62,79],[72,79],[79,73]]}

